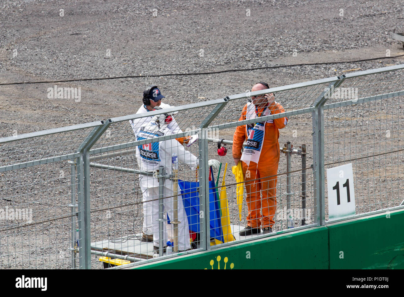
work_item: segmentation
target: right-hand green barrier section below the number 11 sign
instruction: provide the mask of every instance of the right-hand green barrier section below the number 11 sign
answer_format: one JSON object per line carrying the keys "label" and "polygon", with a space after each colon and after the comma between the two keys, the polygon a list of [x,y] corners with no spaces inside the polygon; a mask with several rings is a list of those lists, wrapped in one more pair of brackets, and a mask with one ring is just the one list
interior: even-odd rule
{"label": "right-hand green barrier section below the number 11 sign", "polygon": [[331,269],[404,269],[404,211],[327,227]]}

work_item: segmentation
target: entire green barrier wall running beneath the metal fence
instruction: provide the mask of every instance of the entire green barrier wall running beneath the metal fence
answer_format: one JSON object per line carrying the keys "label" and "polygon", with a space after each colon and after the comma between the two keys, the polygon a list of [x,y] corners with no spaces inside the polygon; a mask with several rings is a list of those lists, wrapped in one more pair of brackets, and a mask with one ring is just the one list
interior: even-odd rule
{"label": "entire green barrier wall running beneath the metal fence", "polygon": [[135,269],[403,269],[404,211],[134,266]]}

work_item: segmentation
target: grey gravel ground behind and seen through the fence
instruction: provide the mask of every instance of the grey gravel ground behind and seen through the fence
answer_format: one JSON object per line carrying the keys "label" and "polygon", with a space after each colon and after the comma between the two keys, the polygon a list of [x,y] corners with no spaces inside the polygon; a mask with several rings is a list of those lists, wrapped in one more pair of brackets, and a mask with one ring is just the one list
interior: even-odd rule
{"label": "grey gravel ground behind and seen through the fence", "polygon": [[[4,28],[0,32],[1,83],[126,75],[145,77],[0,85],[0,137],[134,114],[139,108],[143,89],[151,83],[160,86],[166,96],[165,102],[179,106],[242,93],[262,80],[267,81],[270,86],[282,86],[341,75],[343,70],[367,70],[404,63],[403,57],[399,57],[355,63],[151,78],[147,75],[402,55],[402,44],[391,38],[393,29],[404,32],[402,1],[137,2],[3,0],[0,3],[0,24]],[[81,100],[49,99],[48,88],[53,88],[55,84],[81,88]],[[391,109],[402,107],[400,102]],[[364,110],[365,114],[360,116],[366,117],[372,108],[366,107]],[[386,113],[393,114],[393,111],[386,110]],[[400,113],[397,115],[400,116]],[[360,131],[365,122],[351,124]],[[127,124],[117,129],[123,135],[119,141],[130,137]],[[335,124],[330,129],[332,131],[339,128]],[[286,141],[292,141],[295,147],[306,143],[307,151],[311,152],[311,130],[311,115],[291,117],[288,126],[281,130],[281,147]],[[294,135],[294,131],[299,132]],[[223,130],[220,131],[220,137],[232,139],[233,133],[234,128]],[[120,134],[114,134],[112,130],[111,135],[114,137]],[[364,135],[372,137],[371,133]],[[73,139],[72,136],[65,137],[69,141]],[[363,141],[366,142],[366,139]],[[107,143],[107,140],[100,143]],[[398,143],[400,145],[402,142]],[[214,146],[212,144],[209,150],[210,158],[217,158]],[[2,164],[21,161],[27,155],[29,158],[43,156],[37,150],[23,149],[21,156],[15,156],[16,153],[8,151],[4,146],[2,150]],[[14,154],[13,157],[11,154]],[[281,156],[279,173],[286,171],[282,157],[284,156]],[[293,156],[292,170],[299,169],[299,159]],[[231,150],[221,160],[232,165]],[[398,156],[397,164],[401,164],[400,160]],[[104,163],[135,166],[133,156],[117,157],[105,160]],[[309,154],[307,165],[311,163],[312,154]],[[70,201],[69,166],[66,162],[57,162],[5,174],[2,176],[0,196],[7,200],[2,199],[0,207],[31,205],[29,203],[39,201],[35,209],[41,218],[65,215],[69,211],[67,204]],[[99,177],[98,173],[103,176]],[[308,178],[312,179],[312,176]],[[402,175],[397,178],[402,179]],[[25,182],[19,183],[21,179]],[[92,171],[91,182],[94,186],[92,203],[97,208],[112,203],[119,204],[128,197],[136,197],[133,200],[135,203],[140,201],[139,195],[136,196],[139,194],[136,186],[129,186],[133,185],[130,176]],[[232,182],[234,178],[228,169],[226,183]],[[3,187],[4,183],[7,187]],[[298,174],[294,175],[293,183],[293,191],[298,192]],[[285,177],[280,176],[278,194],[286,192],[285,184]],[[122,188],[117,189],[118,185]],[[395,183],[391,185],[394,187]],[[361,185],[361,189],[363,187],[366,187],[366,183]],[[394,189],[389,188],[390,190]],[[39,191],[40,198],[36,191]],[[229,196],[234,197],[234,188],[229,191]],[[118,202],[108,199],[104,201],[105,197]],[[284,197],[278,197],[278,202],[280,199]],[[229,200],[229,204],[230,212],[236,214],[234,200]],[[308,207],[310,206],[311,201],[308,202]],[[278,210],[282,207],[283,205],[278,206]],[[128,206],[112,212],[107,223],[106,211],[92,215],[92,240],[127,236],[133,231],[140,231],[142,215],[139,208]],[[135,224],[133,215],[136,217]],[[233,223],[239,223],[237,217],[233,215]],[[1,227],[6,226],[6,222],[1,222]],[[0,255],[12,256],[7,260],[2,257],[1,268],[69,267],[69,252],[66,250],[66,242],[68,244],[70,236],[69,219],[61,220],[57,224],[58,228],[51,223],[41,224],[33,227],[34,234],[8,233],[6,238],[12,238],[12,242],[17,242],[18,247],[15,251],[7,250],[7,244],[2,240]],[[240,224],[243,225],[244,222]],[[105,229],[99,231],[101,225]],[[280,230],[280,226],[277,228]],[[39,245],[38,238],[41,238]],[[28,240],[28,244],[21,244],[21,240]],[[35,244],[40,248],[35,248]],[[93,268],[100,268],[97,258],[92,259]]]}

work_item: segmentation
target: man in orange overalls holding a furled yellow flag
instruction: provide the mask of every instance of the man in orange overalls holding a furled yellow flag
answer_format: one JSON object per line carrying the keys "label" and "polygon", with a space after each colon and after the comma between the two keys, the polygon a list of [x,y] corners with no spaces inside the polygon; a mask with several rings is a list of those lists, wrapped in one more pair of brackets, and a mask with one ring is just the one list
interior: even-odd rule
{"label": "man in orange overalls holding a furled yellow flag", "polygon": [[[251,91],[269,88],[265,82],[255,84]],[[285,112],[282,105],[275,101],[274,94],[251,97],[252,102],[244,105],[239,121],[253,119],[269,114]],[[277,118],[238,126],[233,137],[233,158],[237,165],[241,160],[247,192],[247,226],[240,231],[241,236],[261,232],[272,232],[276,211],[276,181],[279,163],[279,129],[286,126],[288,118]],[[243,153],[243,142],[247,141]],[[262,194],[262,199],[261,199]],[[261,216],[262,207],[262,216]]]}

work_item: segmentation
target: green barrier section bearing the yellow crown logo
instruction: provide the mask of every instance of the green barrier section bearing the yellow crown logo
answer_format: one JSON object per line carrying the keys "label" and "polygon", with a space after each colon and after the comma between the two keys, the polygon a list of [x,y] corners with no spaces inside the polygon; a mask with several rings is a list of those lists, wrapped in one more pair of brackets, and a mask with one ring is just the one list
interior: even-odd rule
{"label": "green barrier section bearing the yellow crown logo", "polygon": [[328,230],[326,227],[317,227],[307,231],[271,236],[170,261],[142,265],[139,268],[327,269]]}

